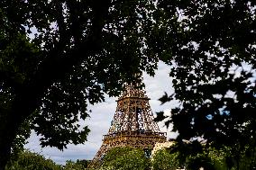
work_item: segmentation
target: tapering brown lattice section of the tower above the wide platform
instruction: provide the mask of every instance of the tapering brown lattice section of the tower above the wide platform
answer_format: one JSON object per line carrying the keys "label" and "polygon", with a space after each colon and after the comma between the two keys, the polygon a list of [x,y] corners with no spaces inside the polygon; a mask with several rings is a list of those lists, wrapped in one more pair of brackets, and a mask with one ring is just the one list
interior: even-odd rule
{"label": "tapering brown lattice section of the tower above the wide platform", "polygon": [[144,90],[135,88],[134,85],[126,85],[123,94],[117,100],[108,134],[124,131],[160,132],[157,123],[153,121],[149,100]]}

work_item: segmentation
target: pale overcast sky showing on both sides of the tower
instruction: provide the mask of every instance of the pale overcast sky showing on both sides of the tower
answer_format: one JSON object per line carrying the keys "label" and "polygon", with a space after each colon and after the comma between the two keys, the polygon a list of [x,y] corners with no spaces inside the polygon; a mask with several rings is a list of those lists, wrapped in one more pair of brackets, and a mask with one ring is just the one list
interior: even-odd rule
{"label": "pale overcast sky showing on both sides of the tower", "polygon": [[[163,63],[159,64],[159,69],[156,71],[154,77],[143,74],[143,81],[145,83],[145,90],[147,95],[151,98],[151,110],[152,112],[166,111],[169,108],[173,108],[177,105],[176,102],[165,103],[160,105],[158,99],[167,92],[173,93],[171,79],[169,78],[169,67]],[[96,151],[102,144],[102,136],[105,135],[110,127],[110,122],[114,117],[117,98],[106,97],[105,103],[98,103],[96,105],[89,106],[88,110],[92,110],[90,118],[84,123],[88,125],[91,132],[88,135],[87,142],[83,145],[69,145],[64,151],[59,151],[57,148],[41,148],[39,145],[38,137],[32,133],[29,143],[25,148],[30,149],[33,152],[41,153],[45,157],[50,157],[57,164],[64,165],[66,160],[76,161],[77,159],[92,159],[96,155]],[[160,130],[167,131],[165,127],[160,124]],[[171,128],[171,127],[170,127]],[[175,138],[176,133],[168,133],[169,138]]]}

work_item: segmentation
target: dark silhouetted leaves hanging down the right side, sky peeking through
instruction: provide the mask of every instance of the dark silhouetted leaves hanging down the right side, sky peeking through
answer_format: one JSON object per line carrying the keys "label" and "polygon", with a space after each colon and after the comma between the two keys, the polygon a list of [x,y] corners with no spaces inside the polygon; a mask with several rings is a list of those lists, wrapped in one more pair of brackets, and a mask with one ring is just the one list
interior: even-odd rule
{"label": "dark silhouetted leaves hanging down the right side, sky peeking through", "polygon": [[[170,66],[176,99],[166,124],[178,140],[206,139],[215,146],[255,146],[256,21],[254,1],[157,3],[152,41]],[[165,119],[159,113],[159,121]]]}

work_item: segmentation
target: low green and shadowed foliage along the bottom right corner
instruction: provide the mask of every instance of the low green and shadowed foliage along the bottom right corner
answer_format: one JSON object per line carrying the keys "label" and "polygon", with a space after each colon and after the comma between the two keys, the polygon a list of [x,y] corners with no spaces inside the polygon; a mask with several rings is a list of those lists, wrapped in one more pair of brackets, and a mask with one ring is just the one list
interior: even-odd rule
{"label": "low green and shadowed foliage along the bottom right corner", "polygon": [[[176,142],[170,148],[159,151],[152,159],[153,168],[160,169],[170,167],[179,167],[185,169],[199,169],[203,167],[208,170],[226,170],[226,169],[253,169],[255,168],[255,151],[246,146],[241,148],[211,146],[200,143],[197,140],[193,142]],[[239,153],[238,153],[239,152]],[[172,160],[171,160],[172,159]]]}

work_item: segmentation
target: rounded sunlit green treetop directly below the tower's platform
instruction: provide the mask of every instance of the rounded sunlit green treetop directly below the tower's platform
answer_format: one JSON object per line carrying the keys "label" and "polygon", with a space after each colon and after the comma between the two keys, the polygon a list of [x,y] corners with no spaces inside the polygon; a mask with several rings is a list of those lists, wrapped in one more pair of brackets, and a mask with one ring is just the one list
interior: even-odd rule
{"label": "rounded sunlit green treetop directly below the tower's platform", "polygon": [[141,148],[113,148],[103,158],[101,169],[111,170],[147,170],[150,169],[150,159]]}

